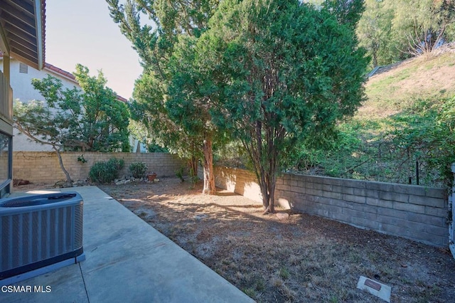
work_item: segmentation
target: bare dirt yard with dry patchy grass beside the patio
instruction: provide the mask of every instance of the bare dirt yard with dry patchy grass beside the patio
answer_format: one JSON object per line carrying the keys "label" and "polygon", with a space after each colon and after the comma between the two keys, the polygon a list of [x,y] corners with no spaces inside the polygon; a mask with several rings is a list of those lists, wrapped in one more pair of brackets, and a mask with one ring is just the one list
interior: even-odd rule
{"label": "bare dirt yard with dry patchy grass beside the patio", "polygon": [[[50,186],[16,190],[34,187]],[[290,216],[264,216],[260,203],[176,178],[99,187],[257,302],[384,302],[356,288],[360,275],[392,287],[391,302],[454,302],[446,249],[282,209]]]}

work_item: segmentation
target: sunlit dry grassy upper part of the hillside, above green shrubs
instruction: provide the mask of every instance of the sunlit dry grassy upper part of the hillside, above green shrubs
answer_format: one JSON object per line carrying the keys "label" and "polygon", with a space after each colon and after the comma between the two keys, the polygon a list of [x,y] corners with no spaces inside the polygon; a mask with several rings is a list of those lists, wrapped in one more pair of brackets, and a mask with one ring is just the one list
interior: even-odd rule
{"label": "sunlit dry grassy upper part of the hillside, above green shrubs", "polygon": [[365,85],[368,100],[357,117],[387,117],[417,98],[455,96],[455,45],[380,68]]}

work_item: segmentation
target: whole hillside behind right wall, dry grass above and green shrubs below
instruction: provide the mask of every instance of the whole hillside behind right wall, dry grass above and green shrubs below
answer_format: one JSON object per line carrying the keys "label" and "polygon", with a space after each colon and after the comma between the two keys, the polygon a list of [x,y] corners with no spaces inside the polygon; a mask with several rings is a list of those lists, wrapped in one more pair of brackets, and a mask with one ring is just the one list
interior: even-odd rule
{"label": "whole hillside behind right wall, dry grass above and green shrubs below", "polygon": [[350,179],[444,186],[455,161],[455,47],[380,68],[368,97],[324,149],[301,147],[291,169]]}

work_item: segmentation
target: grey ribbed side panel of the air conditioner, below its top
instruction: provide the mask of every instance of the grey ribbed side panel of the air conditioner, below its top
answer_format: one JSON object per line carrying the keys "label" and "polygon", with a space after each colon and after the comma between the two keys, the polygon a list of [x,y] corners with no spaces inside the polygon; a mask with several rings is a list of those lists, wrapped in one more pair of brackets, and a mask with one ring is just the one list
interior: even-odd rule
{"label": "grey ribbed side panel of the air conditioner, below its top", "polygon": [[0,207],[0,280],[82,254],[80,195],[49,206]]}

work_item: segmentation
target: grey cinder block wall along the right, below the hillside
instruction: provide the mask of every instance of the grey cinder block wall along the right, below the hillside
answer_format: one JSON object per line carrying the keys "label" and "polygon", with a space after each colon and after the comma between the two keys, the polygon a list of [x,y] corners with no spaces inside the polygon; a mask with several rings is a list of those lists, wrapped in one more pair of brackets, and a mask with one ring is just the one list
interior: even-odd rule
{"label": "grey cinder block wall along the right, below the hillside", "polygon": [[[260,200],[254,174],[217,167],[217,186]],[[284,174],[275,203],[360,228],[446,247],[449,226],[446,191],[405,184]]]}

